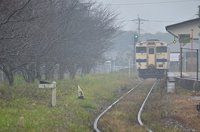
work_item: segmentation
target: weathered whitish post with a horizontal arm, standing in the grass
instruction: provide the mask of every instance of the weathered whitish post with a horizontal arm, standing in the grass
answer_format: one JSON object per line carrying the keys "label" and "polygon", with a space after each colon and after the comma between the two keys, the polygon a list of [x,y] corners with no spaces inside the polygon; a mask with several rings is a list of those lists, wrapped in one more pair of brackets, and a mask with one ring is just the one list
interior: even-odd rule
{"label": "weathered whitish post with a horizontal arm, standing in the grass", "polygon": [[40,81],[38,88],[51,88],[52,89],[52,107],[56,106],[56,82],[53,81],[52,83]]}

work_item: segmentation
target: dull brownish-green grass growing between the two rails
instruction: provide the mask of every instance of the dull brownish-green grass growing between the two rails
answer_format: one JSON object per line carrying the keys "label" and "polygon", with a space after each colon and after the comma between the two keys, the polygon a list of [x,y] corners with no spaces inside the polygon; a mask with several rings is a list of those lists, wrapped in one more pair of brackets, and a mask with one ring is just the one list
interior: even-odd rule
{"label": "dull brownish-green grass growing between the two rails", "polygon": [[102,131],[119,132],[146,132],[138,124],[137,114],[140,106],[150,90],[153,81],[147,80],[133,92],[124,97],[100,119]]}

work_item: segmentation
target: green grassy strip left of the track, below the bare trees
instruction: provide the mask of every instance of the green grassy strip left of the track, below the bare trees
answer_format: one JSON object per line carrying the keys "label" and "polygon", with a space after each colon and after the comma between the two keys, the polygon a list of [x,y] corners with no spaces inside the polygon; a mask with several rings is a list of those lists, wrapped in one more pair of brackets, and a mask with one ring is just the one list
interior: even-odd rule
{"label": "green grassy strip left of the track, below the bare trees", "polygon": [[[27,84],[22,78],[15,80],[12,87],[0,84],[1,132],[92,131],[98,113],[120,96],[115,90],[128,91],[133,86],[128,74],[119,73],[55,80],[56,107],[51,107],[51,89],[38,89],[38,81]],[[78,99],[78,85],[84,100]],[[23,126],[19,125],[20,117],[24,117]]]}

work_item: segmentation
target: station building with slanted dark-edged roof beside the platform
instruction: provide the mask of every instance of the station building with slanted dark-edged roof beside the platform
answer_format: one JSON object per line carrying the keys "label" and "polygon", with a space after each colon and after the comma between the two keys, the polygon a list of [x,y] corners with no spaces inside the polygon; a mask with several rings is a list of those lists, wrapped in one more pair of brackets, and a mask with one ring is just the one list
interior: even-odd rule
{"label": "station building with slanted dark-edged roof beside the platform", "polygon": [[198,41],[200,33],[200,18],[166,26],[166,30],[174,37],[179,38],[179,40],[181,39],[181,35],[188,35],[189,36],[188,40],[191,43],[193,41],[192,45],[191,43],[183,44],[182,46],[180,46],[179,44],[179,45],[174,45],[174,47],[171,46],[170,49],[172,50],[171,53],[173,53],[173,51],[178,52],[178,47],[179,47],[179,54],[180,54],[180,48],[183,48],[183,53],[182,53],[183,71],[189,71],[189,68],[190,71],[195,71],[197,69],[197,50],[191,50],[191,49],[200,49],[200,44]]}

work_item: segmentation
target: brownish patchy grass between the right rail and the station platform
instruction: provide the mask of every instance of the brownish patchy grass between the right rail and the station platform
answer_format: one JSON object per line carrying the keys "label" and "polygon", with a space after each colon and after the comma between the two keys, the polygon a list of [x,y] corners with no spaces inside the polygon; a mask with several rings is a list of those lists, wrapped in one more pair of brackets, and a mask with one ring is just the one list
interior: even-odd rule
{"label": "brownish patchy grass between the right rail and the station platform", "polygon": [[195,104],[199,101],[192,101],[190,98],[194,94],[176,85],[175,93],[163,92],[166,84],[161,81],[150,95],[142,113],[142,120],[152,131],[156,132],[182,132],[185,128],[176,128],[169,125],[167,121],[177,121],[183,126],[200,131],[198,122],[198,112]]}

